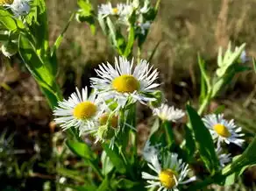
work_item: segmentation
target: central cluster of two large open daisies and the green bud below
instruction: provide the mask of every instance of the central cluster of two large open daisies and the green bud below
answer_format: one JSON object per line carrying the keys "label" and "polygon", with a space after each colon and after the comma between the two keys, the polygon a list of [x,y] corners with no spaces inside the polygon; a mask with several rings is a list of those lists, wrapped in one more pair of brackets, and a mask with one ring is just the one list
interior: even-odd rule
{"label": "central cluster of two large open daisies and the green bud below", "polygon": [[[110,140],[112,146],[120,130],[118,111],[132,103],[155,101],[150,95],[160,85],[154,82],[158,72],[146,60],[133,68],[133,60],[119,57],[114,67],[102,64],[96,74],[98,77],[90,79],[95,92],[88,96],[87,88],[82,89],[82,94],[76,89],[68,100],[58,103],[53,115],[63,130],[75,127],[80,135],[93,133],[96,141]],[[116,108],[110,110],[113,104]]]}

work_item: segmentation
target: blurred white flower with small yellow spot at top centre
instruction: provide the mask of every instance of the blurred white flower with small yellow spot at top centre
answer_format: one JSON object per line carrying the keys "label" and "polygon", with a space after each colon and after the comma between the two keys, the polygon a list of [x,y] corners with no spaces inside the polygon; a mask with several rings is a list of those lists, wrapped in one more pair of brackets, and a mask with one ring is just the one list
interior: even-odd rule
{"label": "blurred white flower with small yellow spot at top centre", "polygon": [[117,7],[113,7],[112,4],[101,4],[98,8],[98,14],[103,18],[110,15],[124,17],[130,14],[132,11],[132,5],[129,4],[117,4]]}

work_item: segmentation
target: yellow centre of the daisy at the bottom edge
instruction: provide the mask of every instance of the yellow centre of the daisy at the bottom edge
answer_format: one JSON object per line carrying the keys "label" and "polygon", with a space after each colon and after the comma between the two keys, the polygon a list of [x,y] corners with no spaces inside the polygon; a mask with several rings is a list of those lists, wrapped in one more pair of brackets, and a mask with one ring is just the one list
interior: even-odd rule
{"label": "yellow centre of the daisy at the bottom edge", "polygon": [[172,188],[176,185],[176,172],[171,169],[166,169],[160,172],[159,179],[164,187]]}

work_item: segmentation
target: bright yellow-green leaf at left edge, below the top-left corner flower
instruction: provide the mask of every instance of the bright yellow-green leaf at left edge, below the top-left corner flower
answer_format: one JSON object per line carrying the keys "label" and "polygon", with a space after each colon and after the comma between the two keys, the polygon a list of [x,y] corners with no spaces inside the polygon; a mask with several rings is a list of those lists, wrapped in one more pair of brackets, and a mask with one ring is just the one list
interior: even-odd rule
{"label": "bright yellow-green leaf at left edge, below the top-left corner flower", "polygon": [[0,7],[0,24],[11,32],[17,31],[18,28],[25,28],[22,21],[14,18],[13,15],[3,7]]}

